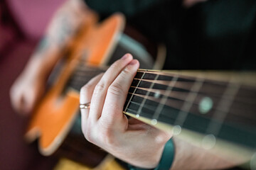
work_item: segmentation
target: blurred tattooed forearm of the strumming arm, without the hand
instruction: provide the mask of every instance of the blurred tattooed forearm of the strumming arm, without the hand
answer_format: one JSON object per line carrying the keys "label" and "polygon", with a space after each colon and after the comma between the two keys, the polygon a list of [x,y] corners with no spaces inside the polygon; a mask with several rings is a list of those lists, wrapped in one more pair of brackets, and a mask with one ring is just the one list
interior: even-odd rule
{"label": "blurred tattooed forearm of the strumming arm, without the hand", "polygon": [[46,79],[65,47],[68,47],[75,33],[85,23],[86,12],[87,7],[82,1],[66,1],[53,16],[24,73]]}

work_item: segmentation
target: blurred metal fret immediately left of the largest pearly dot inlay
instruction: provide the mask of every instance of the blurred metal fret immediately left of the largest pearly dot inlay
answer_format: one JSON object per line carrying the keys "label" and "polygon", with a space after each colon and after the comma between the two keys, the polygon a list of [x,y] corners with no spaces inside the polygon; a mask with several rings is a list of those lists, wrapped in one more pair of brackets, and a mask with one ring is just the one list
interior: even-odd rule
{"label": "blurred metal fret immediately left of the largest pearly dot inlay", "polygon": [[188,112],[190,111],[191,106],[193,105],[193,101],[196,99],[196,96],[198,95],[198,91],[201,89],[202,85],[203,85],[203,79],[197,78],[196,82],[193,84],[191,88],[191,92],[188,94],[186,100],[183,103],[183,106],[181,107],[181,111],[179,111],[178,113],[178,118],[176,119],[174,125],[179,125],[179,126],[183,125],[188,115]]}

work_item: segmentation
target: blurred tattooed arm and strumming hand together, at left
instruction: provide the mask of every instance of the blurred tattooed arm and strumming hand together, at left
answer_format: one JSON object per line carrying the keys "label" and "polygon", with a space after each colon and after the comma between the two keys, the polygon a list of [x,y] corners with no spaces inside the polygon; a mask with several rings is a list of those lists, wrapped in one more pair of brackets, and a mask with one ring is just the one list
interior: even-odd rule
{"label": "blurred tattooed arm and strumming hand together, at left", "polygon": [[63,56],[63,49],[70,45],[90,15],[92,11],[80,0],[68,0],[55,12],[43,40],[11,86],[11,104],[18,113],[31,113],[43,95],[48,75]]}

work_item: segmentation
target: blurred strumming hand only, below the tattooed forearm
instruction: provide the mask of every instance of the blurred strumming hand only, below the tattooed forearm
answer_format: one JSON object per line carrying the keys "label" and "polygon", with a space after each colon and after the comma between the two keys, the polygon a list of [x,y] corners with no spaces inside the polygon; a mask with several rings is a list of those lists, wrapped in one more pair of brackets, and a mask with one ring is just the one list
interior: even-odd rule
{"label": "blurred strumming hand only, below the tattooed forearm", "polygon": [[43,96],[46,82],[34,72],[23,72],[11,86],[11,105],[17,113],[31,113],[39,98]]}

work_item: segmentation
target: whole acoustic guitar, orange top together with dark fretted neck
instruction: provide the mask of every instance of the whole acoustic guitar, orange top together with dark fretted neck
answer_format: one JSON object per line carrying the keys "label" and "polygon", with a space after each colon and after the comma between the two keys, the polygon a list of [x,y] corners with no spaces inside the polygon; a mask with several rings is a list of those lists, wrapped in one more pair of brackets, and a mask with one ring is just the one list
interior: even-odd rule
{"label": "whole acoustic guitar, orange top together with dark fretted neck", "polygon": [[[53,154],[70,132],[78,113],[80,88],[105,71],[102,66],[114,60],[110,54],[119,53],[114,48],[124,28],[123,16],[116,14],[100,25],[96,21],[97,17],[92,17],[86,31],[78,36],[80,43],[28,125],[26,139],[40,137],[43,155]],[[150,56],[142,49],[134,51]],[[152,62],[150,57],[146,61]],[[175,136],[227,159],[251,160],[248,166],[255,169],[255,77],[255,72],[139,69],[124,114],[172,130]]]}

